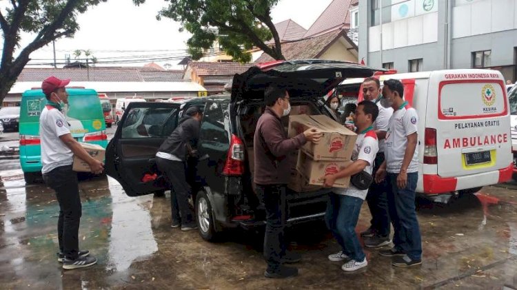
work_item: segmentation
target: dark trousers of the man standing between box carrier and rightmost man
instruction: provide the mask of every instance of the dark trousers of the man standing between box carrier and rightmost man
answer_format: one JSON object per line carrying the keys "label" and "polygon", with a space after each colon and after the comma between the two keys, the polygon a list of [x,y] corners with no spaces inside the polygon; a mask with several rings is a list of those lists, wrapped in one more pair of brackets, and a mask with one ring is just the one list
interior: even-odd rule
{"label": "dark trousers of the man standing between box carrier and rightmost man", "polygon": [[[378,153],[375,157],[373,176],[377,172],[378,167],[384,162],[384,153]],[[381,181],[381,183],[373,182],[368,189],[366,196],[366,202],[370,214],[372,214],[372,220],[370,220],[370,228],[373,229],[377,236],[388,237],[390,231],[390,220],[387,203],[387,191],[388,183],[387,180]]]}

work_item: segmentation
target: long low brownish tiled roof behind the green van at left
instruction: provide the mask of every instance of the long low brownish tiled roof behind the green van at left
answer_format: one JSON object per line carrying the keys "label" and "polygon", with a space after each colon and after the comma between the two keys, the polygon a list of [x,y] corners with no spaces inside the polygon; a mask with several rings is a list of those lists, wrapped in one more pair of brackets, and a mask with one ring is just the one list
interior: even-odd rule
{"label": "long low brownish tiled roof behind the green van at left", "polygon": [[17,81],[42,81],[48,76],[72,81],[182,81],[183,70],[156,68],[24,68]]}

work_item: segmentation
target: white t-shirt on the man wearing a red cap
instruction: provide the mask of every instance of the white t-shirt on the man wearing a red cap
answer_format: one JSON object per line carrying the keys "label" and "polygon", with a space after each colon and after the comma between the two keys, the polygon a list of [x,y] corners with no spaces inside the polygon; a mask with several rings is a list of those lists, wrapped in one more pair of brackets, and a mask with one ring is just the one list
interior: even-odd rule
{"label": "white t-shirt on the man wearing a red cap", "polygon": [[74,154],[59,136],[70,133],[70,127],[65,116],[56,108],[43,108],[39,116],[39,136],[41,139],[41,173],[45,174],[52,169],[71,165]]}

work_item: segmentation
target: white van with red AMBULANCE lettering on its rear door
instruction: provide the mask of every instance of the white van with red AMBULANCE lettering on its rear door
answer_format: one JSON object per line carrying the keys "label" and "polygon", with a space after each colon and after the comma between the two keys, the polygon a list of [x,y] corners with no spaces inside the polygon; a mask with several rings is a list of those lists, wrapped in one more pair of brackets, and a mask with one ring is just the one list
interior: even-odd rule
{"label": "white van with red AMBULANCE lettering on its rear door", "polygon": [[381,85],[401,80],[404,99],[418,112],[417,192],[474,193],[511,179],[510,107],[500,72],[440,70],[378,78]]}

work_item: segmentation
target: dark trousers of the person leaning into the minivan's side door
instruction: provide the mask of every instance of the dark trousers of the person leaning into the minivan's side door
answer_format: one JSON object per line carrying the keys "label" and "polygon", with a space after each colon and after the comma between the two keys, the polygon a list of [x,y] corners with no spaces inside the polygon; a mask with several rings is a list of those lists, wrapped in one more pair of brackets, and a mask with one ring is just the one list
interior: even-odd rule
{"label": "dark trousers of the person leaning into the minivan's side door", "polygon": [[188,204],[191,188],[185,177],[185,163],[156,157],[156,166],[165,175],[170,189],[170,207],[172,220],[181,221],[181,225],[192,225],[194,211]]}

